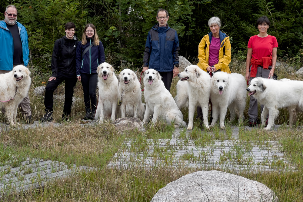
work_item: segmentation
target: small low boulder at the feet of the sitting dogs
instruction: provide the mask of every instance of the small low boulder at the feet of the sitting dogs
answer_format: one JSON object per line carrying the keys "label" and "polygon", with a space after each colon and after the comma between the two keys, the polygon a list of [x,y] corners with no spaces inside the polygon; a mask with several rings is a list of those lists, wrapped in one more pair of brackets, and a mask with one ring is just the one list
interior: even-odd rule
{"label": "small low boulder at the feet of the sitting dogs", "polygon": [[116,131],[118,134],[123,134],[128,131],[142,131],[145,132],[145,127],[142,124],[142,121],[138,118],[118,118],[113,124],[115,125]]}

